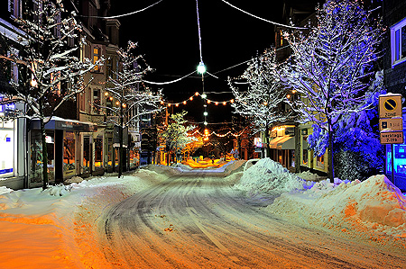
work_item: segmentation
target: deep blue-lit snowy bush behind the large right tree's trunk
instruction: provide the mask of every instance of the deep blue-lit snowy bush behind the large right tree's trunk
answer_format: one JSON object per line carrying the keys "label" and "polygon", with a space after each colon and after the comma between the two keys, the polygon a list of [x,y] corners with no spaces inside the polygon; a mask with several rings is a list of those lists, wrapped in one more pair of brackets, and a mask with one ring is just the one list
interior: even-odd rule
{"label": "deep blue-lit snowy bush behind the large right tree's trunk", "polygon": [[[366,96],[373,108],[352,112],[339,119],[334,126],[334,157],[337,177],[349,180],[364,180],[383,170],[383,147],[379,138],[378,95],[385,94],[383,71],[376,72],[375,80],[369,86]],[[326,151],[328,135],[314,125],[308,142],[318,153]]]}

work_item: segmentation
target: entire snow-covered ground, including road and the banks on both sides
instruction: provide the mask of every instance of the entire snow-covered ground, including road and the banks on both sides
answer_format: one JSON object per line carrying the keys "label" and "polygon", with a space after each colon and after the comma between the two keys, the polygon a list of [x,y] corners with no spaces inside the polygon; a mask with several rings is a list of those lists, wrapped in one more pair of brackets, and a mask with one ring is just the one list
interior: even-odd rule
{"label": "entire snow-covered ground, including road and the banks on both sides", "polygon": [[328,184],[267,158],[243,167],[149,166],[45,192],[2,188],[0,268],[406,264],[406,200],[382,175]]}

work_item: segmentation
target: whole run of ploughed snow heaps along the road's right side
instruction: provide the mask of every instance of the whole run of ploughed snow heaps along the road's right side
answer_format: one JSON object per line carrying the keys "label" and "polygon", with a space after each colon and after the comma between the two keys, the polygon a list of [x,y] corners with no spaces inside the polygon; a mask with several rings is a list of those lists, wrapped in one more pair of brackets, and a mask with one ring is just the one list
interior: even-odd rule
{"label": "whole run of ploughed snow heaps along the road's right side", "polygon": [[267,211],[301,225],[406,238],[406,198],[384,175],[362,183],[337,178],[334,183],[315,182],[309,172],[303,175],[306,181],[264,158],[248,168],[235,187],[250,194],[280,193]]}

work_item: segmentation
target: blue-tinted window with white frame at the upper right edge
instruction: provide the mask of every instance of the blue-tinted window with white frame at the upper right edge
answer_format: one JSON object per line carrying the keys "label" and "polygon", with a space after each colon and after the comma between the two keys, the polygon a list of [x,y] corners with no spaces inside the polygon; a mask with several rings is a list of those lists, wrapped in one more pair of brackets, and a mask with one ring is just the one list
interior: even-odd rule
{"label": "blue-tinted window with white frame at the upper right edge", "polygon": [[391,27],[392,67],[406,61],[406,18]]}

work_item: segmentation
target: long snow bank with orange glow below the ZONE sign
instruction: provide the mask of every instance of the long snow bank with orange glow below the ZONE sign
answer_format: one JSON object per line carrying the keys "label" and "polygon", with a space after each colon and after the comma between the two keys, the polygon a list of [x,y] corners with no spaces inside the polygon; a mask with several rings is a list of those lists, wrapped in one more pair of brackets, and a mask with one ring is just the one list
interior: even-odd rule
{"label": "long snow bank with orange glow below the ZONE sign", "polygon": [[384,175],[362,183],[321,181],[309,190],[282,193],[267,211],[311,227],[406,238],[406,198]]}

